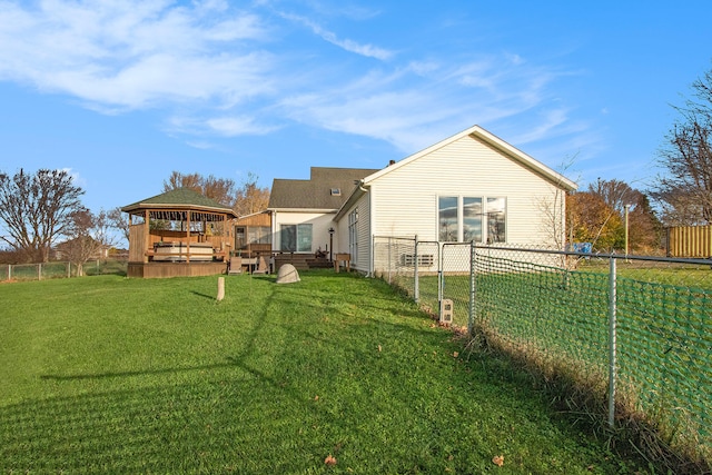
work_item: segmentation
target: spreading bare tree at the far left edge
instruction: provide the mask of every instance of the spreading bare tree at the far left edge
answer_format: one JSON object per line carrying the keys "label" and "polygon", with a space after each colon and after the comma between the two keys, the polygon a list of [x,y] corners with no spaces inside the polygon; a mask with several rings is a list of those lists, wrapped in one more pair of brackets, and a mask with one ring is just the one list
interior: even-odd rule
{"label": "spreading bare tree at the far left edge", "polygon": [[14,176],[0,171],[0,220],[8,236],[0,236],[26,261],[46,263],[55,240],[66,235],[72,215],[82,209],[83,190],[65,170],[20,169]]}

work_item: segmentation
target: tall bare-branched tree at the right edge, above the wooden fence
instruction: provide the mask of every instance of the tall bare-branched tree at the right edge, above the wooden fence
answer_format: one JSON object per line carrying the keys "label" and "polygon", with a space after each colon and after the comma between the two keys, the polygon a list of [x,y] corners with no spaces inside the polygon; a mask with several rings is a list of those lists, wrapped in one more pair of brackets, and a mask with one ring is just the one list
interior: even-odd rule
{"label": "tall bare-branched tree at the right edge, above the wooden fence", "polygon": [[651,196],[665,224],[712,224],[712,70],[692,83],[692,98],[675,107],[680,118],[665,137]]}

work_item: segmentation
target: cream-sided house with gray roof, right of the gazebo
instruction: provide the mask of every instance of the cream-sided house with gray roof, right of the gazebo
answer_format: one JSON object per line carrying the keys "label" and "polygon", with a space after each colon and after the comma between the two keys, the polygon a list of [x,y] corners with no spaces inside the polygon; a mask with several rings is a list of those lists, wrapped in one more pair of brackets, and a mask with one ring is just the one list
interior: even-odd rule
{"label": "cream-sided house with gray roof, right of the gazebo", "polygon": [[315,253],[333,241],[352,268],[372,273],[375,236],[551,246],[563,240],[563,195],[575,187],[474,126],[383,169],[314,167],[309,180],[275,179],[273,247]]}

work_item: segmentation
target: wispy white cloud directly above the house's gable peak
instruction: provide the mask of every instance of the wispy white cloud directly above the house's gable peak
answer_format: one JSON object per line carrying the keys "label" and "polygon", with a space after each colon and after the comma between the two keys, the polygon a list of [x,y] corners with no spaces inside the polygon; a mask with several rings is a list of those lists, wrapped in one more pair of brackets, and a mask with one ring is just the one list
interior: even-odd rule
{"label": "wispy white cloud directly above the house's gable peak", "polygon": [[524,144],[575,131],[567,110],[546,92],[556,77],[522,60],[487,56],[459,65],[413,61],[400,70],[372,70],[346,85],[296,95],[281,105],[294,120],[385,140],[404,152],[474,123],[512,125],[538,110],[542,120],[533,128],[514,127],[515,142]]}

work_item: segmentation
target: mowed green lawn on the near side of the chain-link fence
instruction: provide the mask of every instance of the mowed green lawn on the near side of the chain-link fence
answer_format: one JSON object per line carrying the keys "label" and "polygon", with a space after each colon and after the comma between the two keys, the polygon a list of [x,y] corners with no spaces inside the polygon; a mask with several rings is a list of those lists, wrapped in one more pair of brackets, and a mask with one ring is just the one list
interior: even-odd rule
{"label": "mowed green lawn on the near side of the chain-link fence", "polygon": [[217,280],[0,284],[2,473],[636,469],[383,281]]}

